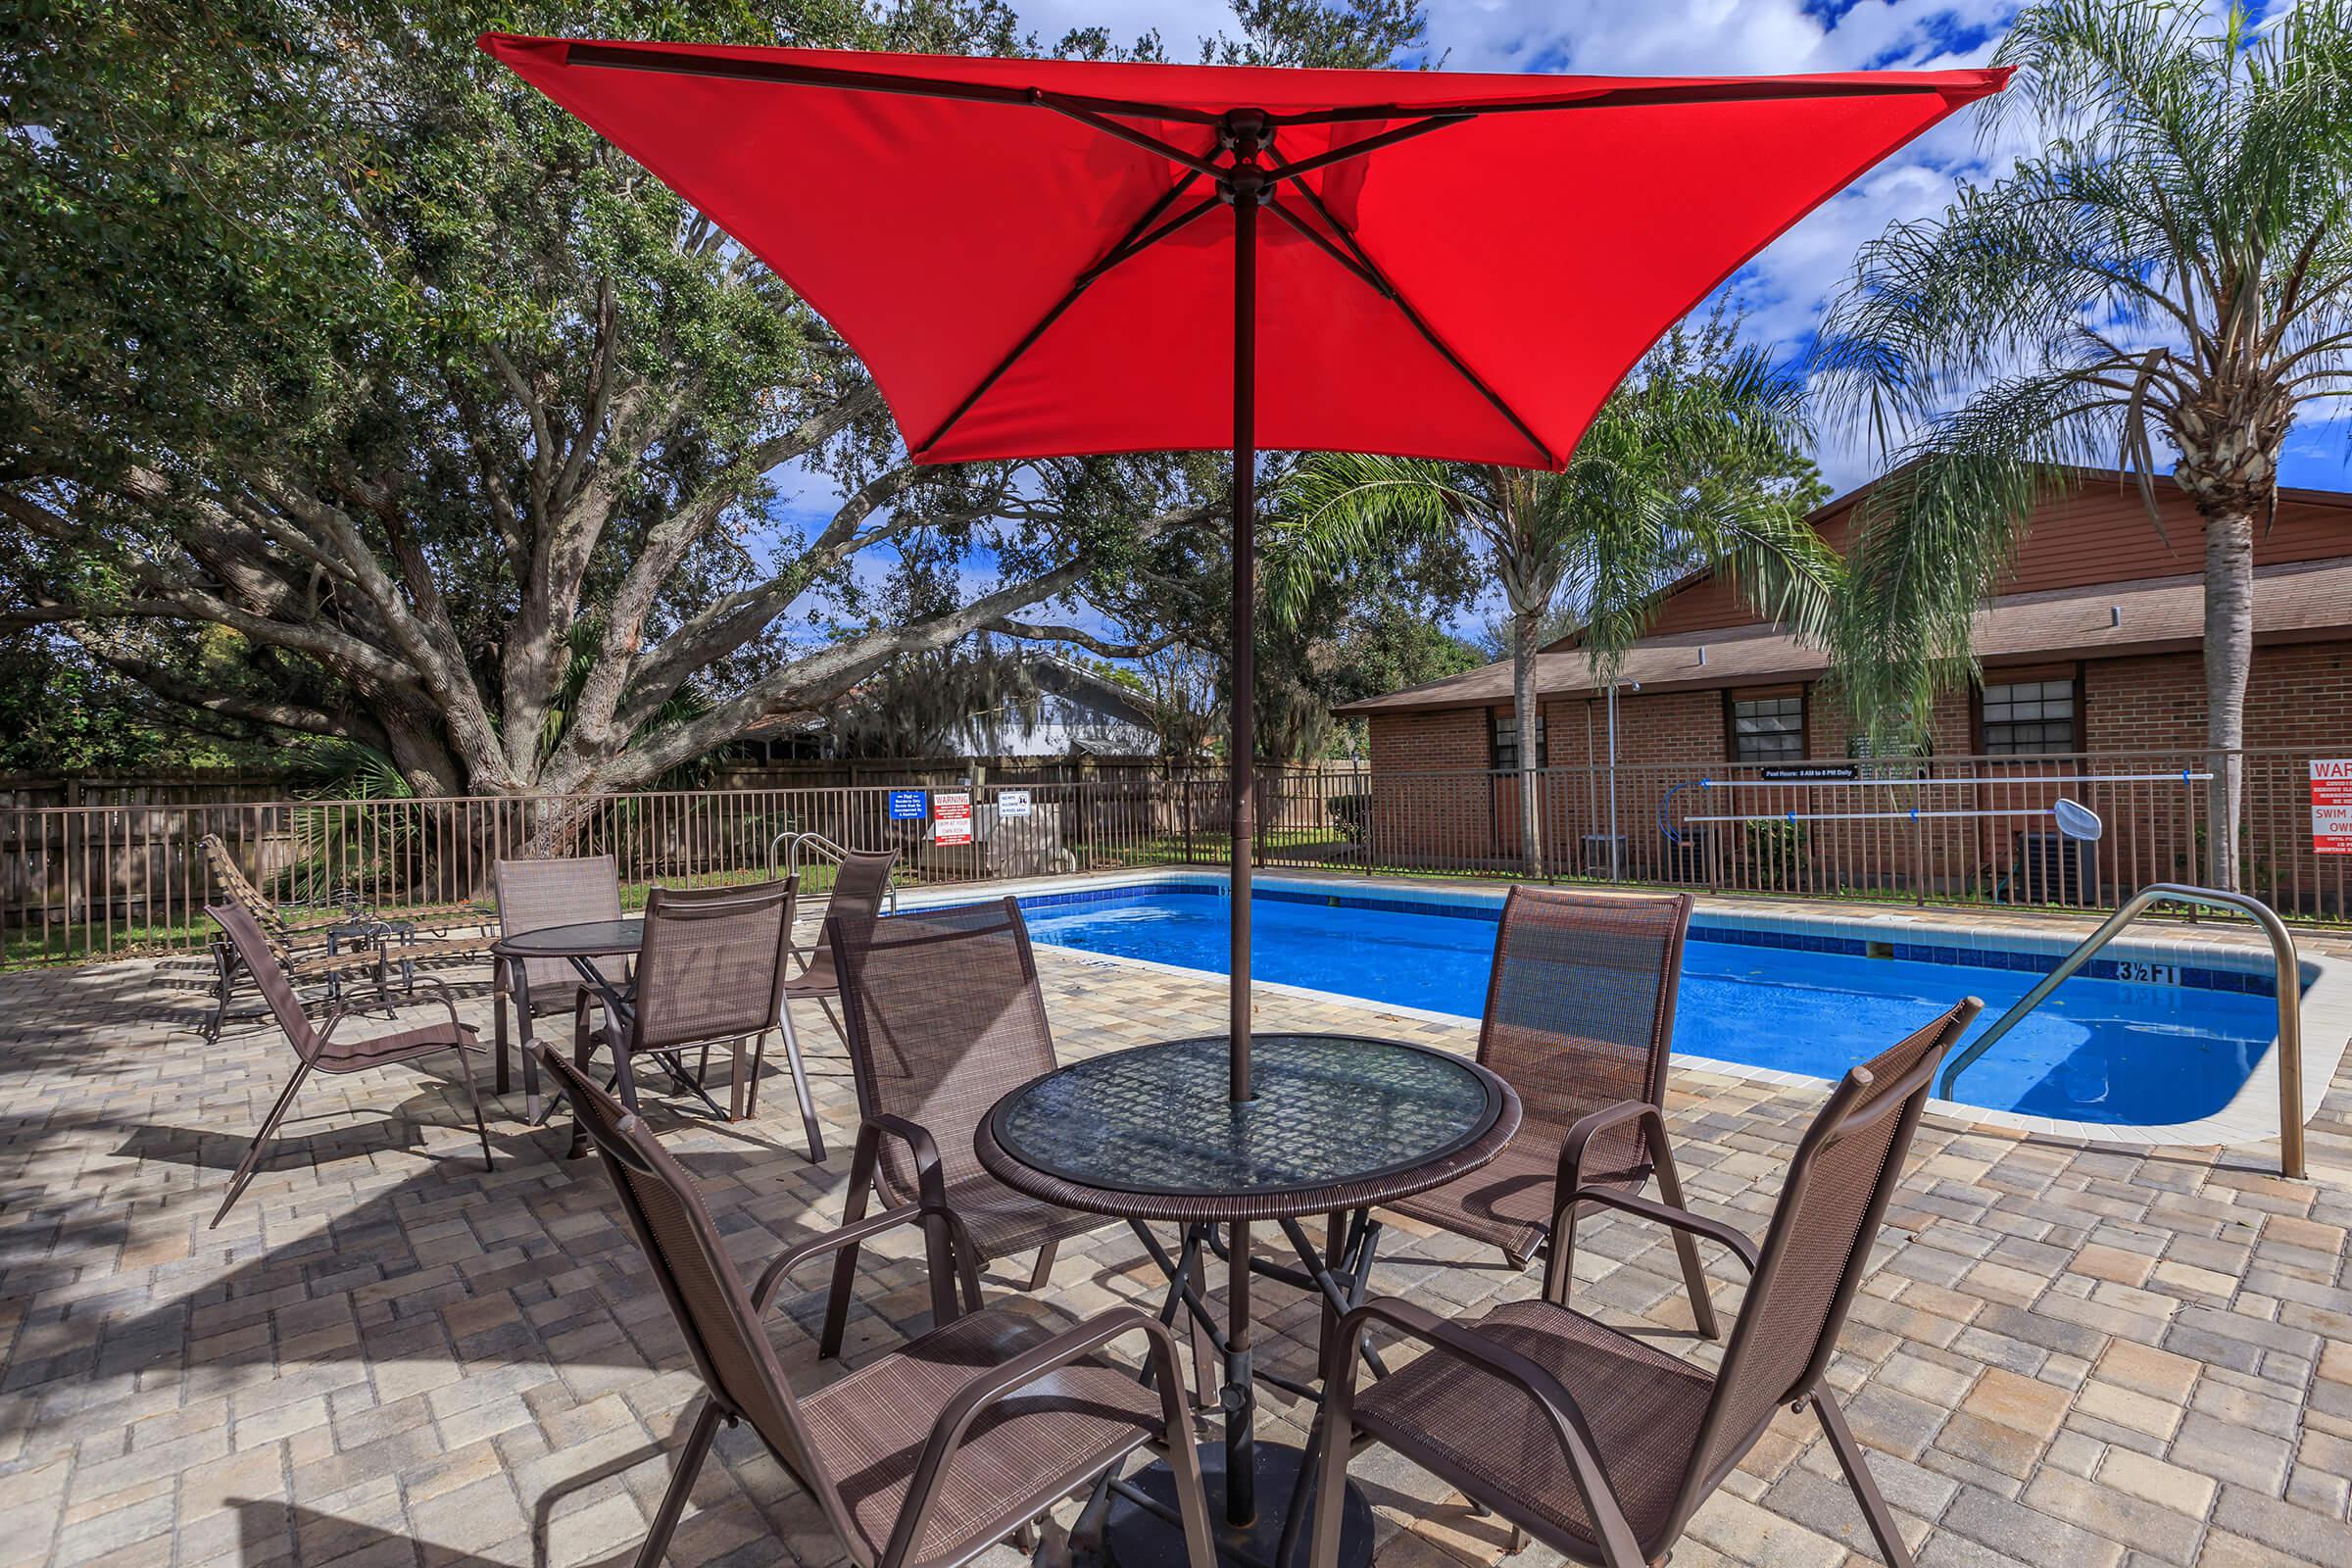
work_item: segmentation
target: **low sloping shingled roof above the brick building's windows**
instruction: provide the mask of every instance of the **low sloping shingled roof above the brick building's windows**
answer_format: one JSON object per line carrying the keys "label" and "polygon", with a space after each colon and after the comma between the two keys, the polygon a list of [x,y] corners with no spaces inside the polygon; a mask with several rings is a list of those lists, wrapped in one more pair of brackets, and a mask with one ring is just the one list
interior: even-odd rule
{"label": "low sloping shingled roof above the brick building's windows", "polygon": [[[2352,557],[2256,567],[2253,581],[2258,639],[2352,635]],[[1973,635],[1976,654],[1985,663],[2197,649],[2204,642],[2204,578],[2192,574],[2006,595],[1976,611]],[[1618,679],[1639,682],[1642,691],[1691,691],[1811,679],[1828,665],[1828,654],[1820,649],[1778,625],[1755,623],[1644,637],[1628,649]],[[1599,691],[1599,684],[1583,649],[1557,649],[1536,656],[1536,689],[1543,696],[1585,696]],[[1423,686],[1345,703],[1334,712],[1371,715],[1508,701],[1505,658]]]}

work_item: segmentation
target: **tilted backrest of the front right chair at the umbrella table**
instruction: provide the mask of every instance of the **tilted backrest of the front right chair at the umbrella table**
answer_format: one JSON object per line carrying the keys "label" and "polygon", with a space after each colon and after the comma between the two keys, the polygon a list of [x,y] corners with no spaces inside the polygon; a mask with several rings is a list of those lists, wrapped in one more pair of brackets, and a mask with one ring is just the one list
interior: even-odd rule
{"label": "tilted backrest of the front right chair at the umbrella table", "polygon": [[1830,1366],[1886,1201],[1903,1185],[1903,1159],[1936,1065],[1983,1006],[1966,997],[1849,1070],[1806,1128],[1724,1349],[1684,1509],[1705,1502],[1773,1410],[1811,1389]]}

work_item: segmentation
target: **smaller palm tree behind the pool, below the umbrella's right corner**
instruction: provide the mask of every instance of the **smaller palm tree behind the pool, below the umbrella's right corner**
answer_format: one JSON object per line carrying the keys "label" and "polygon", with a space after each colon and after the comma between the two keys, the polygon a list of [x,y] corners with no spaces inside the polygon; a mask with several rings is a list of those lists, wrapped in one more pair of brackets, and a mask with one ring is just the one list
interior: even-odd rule
{"label": "smaller palm tree behind the pool, below the umbrella's right corner", "polygon": [[1665,585],[1719,567],[1771,618],[1828,625],[1837,557],[1804,522],[1802,383],[1755,350],[1698,367],[1653,355],[1618,388],[1562,473],[1357,454],[1305,458],[1282,484],[1268,541],[1268,599],[1291,614],[1303,585],[1345,559],[1465,531],[1503,588],[1519,724],[1519,856],[1543,875],[1536,799],[1536,649],[1562,609],[1583,625],[1595,675],[1613,679]]}

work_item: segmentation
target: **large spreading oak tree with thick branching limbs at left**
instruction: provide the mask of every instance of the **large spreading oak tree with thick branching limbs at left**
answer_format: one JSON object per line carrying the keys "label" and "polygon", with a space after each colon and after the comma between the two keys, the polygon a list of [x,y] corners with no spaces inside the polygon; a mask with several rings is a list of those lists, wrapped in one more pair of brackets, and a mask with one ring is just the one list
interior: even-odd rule
{"label": "large spreading oak tree with thick branching limbs at left", "polygon": [[[826,324],[485,26],[1023,47],[993,0],[9,7],[0,630],[416,792],[593,795],[1056,635],[1016,616],[1216,512],[1202,463],[913,468]],[[908,555],[981,581],[889,614]]]}

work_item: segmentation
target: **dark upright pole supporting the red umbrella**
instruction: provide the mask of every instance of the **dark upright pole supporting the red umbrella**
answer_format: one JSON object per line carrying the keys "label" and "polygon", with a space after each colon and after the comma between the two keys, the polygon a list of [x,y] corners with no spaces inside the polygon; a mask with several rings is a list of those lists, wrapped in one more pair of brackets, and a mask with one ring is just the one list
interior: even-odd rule
{"label": "dark upright pole supporting the red umbrella", "polygon": [[[1254,148],[1249,150],[1254,158]],[[1232,188],[1232,952],[1225,964],[1230,1088],[1249,1091],[1249,856],[1256,846],[1258,715],[1258,181],[1247,162]]]}

